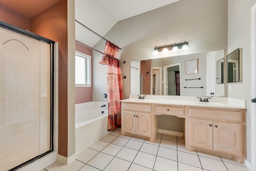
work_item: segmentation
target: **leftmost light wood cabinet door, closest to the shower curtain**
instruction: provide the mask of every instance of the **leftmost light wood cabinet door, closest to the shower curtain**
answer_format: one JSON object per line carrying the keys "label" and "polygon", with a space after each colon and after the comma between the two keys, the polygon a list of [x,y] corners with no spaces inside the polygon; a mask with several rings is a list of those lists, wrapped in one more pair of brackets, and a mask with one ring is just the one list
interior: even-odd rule
{"label": "leftmost light wood cabinet door, closest to the shower curtain", "polygon": [[122,127],[127,133],[136,133],[136,113],[131,111],[122,112]]}

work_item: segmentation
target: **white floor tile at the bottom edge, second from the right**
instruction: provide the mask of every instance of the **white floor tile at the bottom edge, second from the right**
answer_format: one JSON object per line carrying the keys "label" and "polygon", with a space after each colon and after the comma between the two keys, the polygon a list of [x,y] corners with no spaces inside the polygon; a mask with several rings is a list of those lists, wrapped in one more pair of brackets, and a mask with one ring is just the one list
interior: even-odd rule
{"label": "white floor tile at the bottom edge, second from the right", "polygon": [[210,171],[228,171],[224,163],[220,160],[210,159],[208,157],[199,156],[203,169]]}

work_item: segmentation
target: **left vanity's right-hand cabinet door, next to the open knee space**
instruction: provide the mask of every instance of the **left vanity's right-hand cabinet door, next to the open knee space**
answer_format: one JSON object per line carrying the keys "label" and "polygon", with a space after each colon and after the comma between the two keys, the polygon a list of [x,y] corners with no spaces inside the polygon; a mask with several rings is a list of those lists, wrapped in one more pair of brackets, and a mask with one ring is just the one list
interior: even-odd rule
{"label": "left vanity's right-hand cabinet door, next to the open knee space", "polygon": [[136,113],[136,134],[151,136],[151,114]]}

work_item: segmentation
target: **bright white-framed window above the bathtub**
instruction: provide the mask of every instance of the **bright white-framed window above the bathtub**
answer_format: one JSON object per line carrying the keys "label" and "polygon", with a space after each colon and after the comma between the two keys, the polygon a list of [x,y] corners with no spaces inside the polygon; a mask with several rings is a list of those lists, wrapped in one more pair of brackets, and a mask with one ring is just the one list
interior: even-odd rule
{"label": "bright white-framed window above the bathtub", "polygon": [[76,51],[76,87],[91,87],[91,56]]}

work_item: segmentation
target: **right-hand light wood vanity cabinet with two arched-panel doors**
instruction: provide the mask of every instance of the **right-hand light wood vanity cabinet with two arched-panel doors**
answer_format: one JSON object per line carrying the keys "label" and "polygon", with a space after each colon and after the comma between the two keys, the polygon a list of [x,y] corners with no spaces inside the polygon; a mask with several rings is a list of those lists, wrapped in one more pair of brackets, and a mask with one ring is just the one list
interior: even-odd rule
{"label": "right-hand light wood vanity cabinet with two arched-panel doors", "polygon": [[[186,149],[231,155],[244,162],[244,109],[220,109],[188,106],[186,108]],[[221,155],[221,154],[217,154]],[[222,155],[223,156],[223,155]]]}

